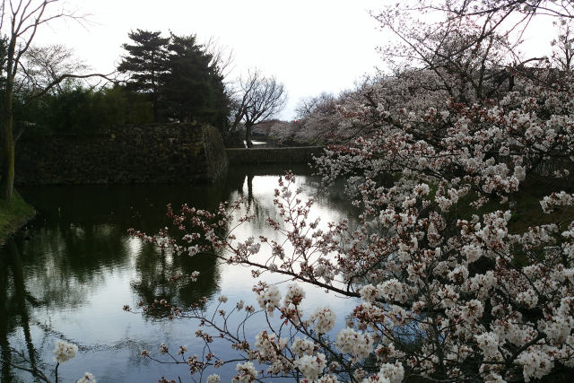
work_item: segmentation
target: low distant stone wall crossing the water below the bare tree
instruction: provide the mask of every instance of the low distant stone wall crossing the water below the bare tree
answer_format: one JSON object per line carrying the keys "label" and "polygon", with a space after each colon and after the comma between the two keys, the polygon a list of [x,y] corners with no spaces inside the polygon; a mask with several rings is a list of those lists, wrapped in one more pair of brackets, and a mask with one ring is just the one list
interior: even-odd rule
{"label": "low distant stone wall crossing the water below the bare tree", "polygon": [[248,165],[260,163],[309,163],[313,156],[323,152],[322,146],[304,146],[293,148],[228,148],[226,149],[230,165]]}

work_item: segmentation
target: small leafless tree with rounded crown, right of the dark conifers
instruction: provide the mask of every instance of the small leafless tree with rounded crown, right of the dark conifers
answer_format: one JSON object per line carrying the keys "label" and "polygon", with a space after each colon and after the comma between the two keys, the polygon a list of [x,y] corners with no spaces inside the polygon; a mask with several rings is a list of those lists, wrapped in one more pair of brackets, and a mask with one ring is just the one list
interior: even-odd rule
{"label": "small leafless tree with rounded crown, right of the dark conifers", "polygon": [[285,106],[287,94],[283,83],[274,76],[265,77],[259,70],[248,72],[247,77],[239,79],[239,90],[234,101],[233,121],[230,131],[235,131],[239,123],[245,125],[245,141],[252,147],[251,128],[265,119],[272,118]]}

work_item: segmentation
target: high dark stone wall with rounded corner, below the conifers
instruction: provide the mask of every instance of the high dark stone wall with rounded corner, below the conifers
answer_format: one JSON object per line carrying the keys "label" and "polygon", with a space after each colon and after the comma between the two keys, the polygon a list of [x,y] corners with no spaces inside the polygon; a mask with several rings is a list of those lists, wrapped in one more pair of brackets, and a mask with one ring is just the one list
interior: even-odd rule
{"label": "high dark stone wall with rounded corner, below the conifers", "polygon": [[211,182],[227,171],[213,126],[118,126],[104,135],[22,136],[19,185]]}

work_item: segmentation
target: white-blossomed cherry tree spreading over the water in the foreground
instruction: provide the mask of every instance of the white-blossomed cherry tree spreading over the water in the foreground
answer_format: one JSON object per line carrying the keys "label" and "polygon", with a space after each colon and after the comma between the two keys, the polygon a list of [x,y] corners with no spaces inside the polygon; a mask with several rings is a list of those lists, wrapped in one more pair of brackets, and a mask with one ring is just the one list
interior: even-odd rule
{"label": "white-blossomed cherry tree spreading over the water in the foreground", "polygon": [[[475,22],[485,14],[496,22],[507,11],[466,3],[477,6],[453,18],[475,10]],[[551,12],[550,3],[509,6],[530,16]],[[493,41],[491,23],[481,25],[482,41]],[[224,296],[214,308],[143,305],[198,320],[204,343],[203,354],[162,344],[163,356],[143,356],[185,363],[209,382],[220,377],[207,371],[230,362],[233,381],[530,381],[574,368],[574,78],[545,63],[503,68],[467,37],[451,40],[448,55],[465,50],[457,61],[381,76],[337,106],[345,140],[328,145],[316,167],[326,185],[346,179],[358,225],[311,219],[313,199],[287,173],[274,191],[280,218],[267,219],[279,239],[239,238],[253,219],[238,218],[245,201],[217,212],[170,208],[172,227],[132,231],[164,251],[251,267],[257,297],[257,307]],[[464,63],[483,73],[461,75]],[[502,69],[509,75],[499,86],[490,76]],[[271,273],[293,283],[268,283]],[[328,306],[303,309],[305,285],[356,301],[344,328]],[[257,316],[267,326],[250,339],[242,328]],[[243,356],[220,358],[218,342]]]}

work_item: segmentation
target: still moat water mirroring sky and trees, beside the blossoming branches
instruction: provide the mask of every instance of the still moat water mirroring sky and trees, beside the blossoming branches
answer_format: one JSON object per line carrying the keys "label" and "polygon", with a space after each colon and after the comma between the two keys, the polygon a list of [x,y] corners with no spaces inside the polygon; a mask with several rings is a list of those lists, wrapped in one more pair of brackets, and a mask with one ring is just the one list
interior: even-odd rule
{"label": "still moat water mirroring sky and trees, beside the blossoming branches", "polygon": [[[174,206],[188,202],[213,209],[222,198],[233,200],[249,194],[250,209],[258,218],[265,219],[269,215],[278,218],[273,205],[277,176],[236,174],[234,177],[237,180],[212,188],[105,187],[96,188],[100,192],[95,196],[91,188],[43,188],[35,190],[37,201],[29,192],[33,204],[40,209],[46,206],[48,210],[34,227],[14,241],[15,253],[11,257],[22,262],[24,295],[29,303],[25,313],[6,311],[9,319],[3,322],[3,326],[7,326],[4,335],[0,327],[0,338],[4,336],[5,342],[0,339],[0,344],[7,342],[15,350],[26,350],[31,344],[39,354],[39,368],[48,376],[53,373],[51,353],[56,340],[63,338],[79,344],[78,356],[59,368],[65,382],[75,381],[86,370],[102,382],[157,381],[161,375],[191,381],[186,366],[158,365],[143,360],[139,353],[146,348],[158,355],[161,343],[174,350],[180,344],[187,344],[190,353],[196,353],[194,347],[199,345],[194,335],[196,323],[126,313],[123,305],[136,307],[139,300],[167,297],[185,306],[200,295],[210,297],[212,304],[222,293],[230,298],[225,305],[229,311],[237,300],[256,305],[251,288],[257,280],[244,267],[218,266],[201,258],[161,257],[157,249],[127,237],[126,229],[140,225],[144,230],[162,227],[163,206],[168,202],[174,202]],[[300,177],[298,183],[303,189],[303,200],[314,194],[316,187],[310,178]],[[54,196],[49,196],[50,193]],[[92,206],[80,209],[74,205],[76,199],[78,204],[90,200]],[[326,224],[344,218],[345,212],[344,202],[334,203],[328,196],[321,196],[311,217],[321,217],[322,224]],[[246,222],[236,234],[238,238],[265,235],[276,239],[276,233],[261,220]],[[10,283],[17,271],[14,265],[4,269],[4,279],[8,281],[4,294],[8,303],[16,300],[20,293]],[[204,276],[199,283],[167,283],[173,274],[190,274],[194,270],[200,270]],[[275,274],[264,274],[261,279],[267,283],[286,280]],[[283,283],[280,290],[284,292],[286,286],[287,283]],[[35,304],[30,304],[30,297],[37,300]],[[321,289],[307,289],[304,309],[325,304],[341,313],[337,326],[344,326],[343,313],[354,306],[353,300],[326,294]],[[22,318],[28,319],[23,323]],[[248,328],[251,340],[261,328],[260,322],[252,323]],[[221,353],[228,357],[236,355],[227,345]],[[222,374],[222,381],[228,381],[234,369],[233,364],[217,372]],[[30,380],[30,374],[14,370],[13,374],[23,381]],[[7,381],[5,376],[0,380]]]}

